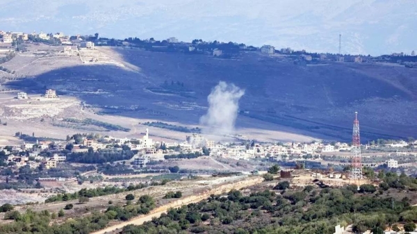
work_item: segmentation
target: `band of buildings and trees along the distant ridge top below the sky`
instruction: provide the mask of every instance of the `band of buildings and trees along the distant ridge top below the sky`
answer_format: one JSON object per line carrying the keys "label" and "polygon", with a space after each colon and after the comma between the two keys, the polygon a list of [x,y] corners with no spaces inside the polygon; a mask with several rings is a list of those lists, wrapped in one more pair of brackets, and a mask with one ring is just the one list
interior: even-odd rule
{"label": "band of buildings and trees along the distant ridge top below the sky", "polygon": [[414,67],[417,65],[416,52],[411,51],[407,54],[404,52],[392,53],[391,55],[370,56],[370,55],[342,55],[334,53],[309,53],[308,51],[294,51],[291,48],[276,49],[271,45],[263,45],[261,48],[238,44],[236,42],[205,42],[203,40],[193,40],[193,42],[180,42],[176,37],[170,37],[166,40],[155,40],[149,38],[140,40],[137,37],[129,37],[124,40],[116,40],[114,38],[99,37],[99,33],[95,35],[65,35],[64,33],[22,33],[22,32],[6,32],[0,31],[0,49],[5,52],[21,51],[19,44],[24,42],[42,42],[51,45],[63,45],[63,53],[67,55],[79,55],[80,50],[87,57],[85,62],[99,62],[99,58],[88,54],[88,50],[94,50],[98,47],[128,47],[140,48],[149,51],[167,51],[181,53],[203,53],[208,56],[219,58],[234,58],[240,52],[260,51],[268,56],[291,55],[297,56],[294,61],[301,64],[322,63],[326,61],[337,62],[391,62],[404,65],[405,67]]}

